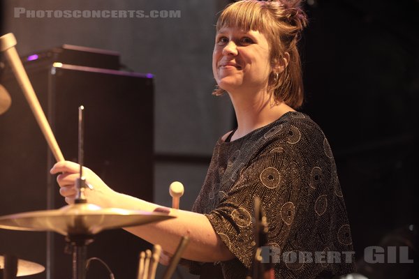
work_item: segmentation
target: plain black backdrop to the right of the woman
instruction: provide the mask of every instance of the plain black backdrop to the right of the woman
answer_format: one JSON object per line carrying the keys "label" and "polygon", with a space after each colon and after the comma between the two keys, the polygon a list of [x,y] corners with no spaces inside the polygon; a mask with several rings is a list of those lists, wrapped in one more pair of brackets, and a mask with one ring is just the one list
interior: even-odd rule
{"label": "plain black backdrop to the right of the woman", "polygon": [[365,266],[362,255],[378,245],[418,255],[419,2],[307,3],[304,111],[334,151],[358,269],[413,278],[413,266]]}

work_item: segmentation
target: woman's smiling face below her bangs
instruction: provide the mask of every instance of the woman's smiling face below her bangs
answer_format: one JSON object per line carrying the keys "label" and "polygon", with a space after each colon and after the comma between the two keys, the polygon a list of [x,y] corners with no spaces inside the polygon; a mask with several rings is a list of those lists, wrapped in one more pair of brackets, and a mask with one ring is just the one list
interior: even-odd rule
{"label": "woman's smiling face below her bangs", "polygon": [[230,93],[266,89],[272,68],[265,35],[235,27],[220,29],[215,38],[212,71],[219,87]]}

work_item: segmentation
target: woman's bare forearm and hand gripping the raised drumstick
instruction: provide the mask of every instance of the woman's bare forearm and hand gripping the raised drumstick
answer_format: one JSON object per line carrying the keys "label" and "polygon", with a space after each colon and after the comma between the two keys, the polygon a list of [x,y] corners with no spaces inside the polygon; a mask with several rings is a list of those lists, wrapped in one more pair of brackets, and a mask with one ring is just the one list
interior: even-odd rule
{"label": "woman's bare forearm and hand gripping the raised drumstick", "polygon": [[[79,170],[78,164],[62,161],[55,164],[50,171],[51,174],[59,174],[57,182],[60,186],[60,194],[66,197],[66,202],[70,204],[75,199],[75,181],[80,176]],[[116,207],[149,212],[161,207],[136,197],[115,192],[91,169],[84,168],[84,176],[87,183],[93,186],[93,190],[88,188],[85,191],[87,202],[103,208]],[[199,262],[219,262],[234,258],[203,214],[177,209],[169,211],[170,216],[176,218],[125,229],[150,243],[161,245],[163,250],[170,253],[175,252],[182,236],[189,236],[189,245],[182,255],[185,259]]]}

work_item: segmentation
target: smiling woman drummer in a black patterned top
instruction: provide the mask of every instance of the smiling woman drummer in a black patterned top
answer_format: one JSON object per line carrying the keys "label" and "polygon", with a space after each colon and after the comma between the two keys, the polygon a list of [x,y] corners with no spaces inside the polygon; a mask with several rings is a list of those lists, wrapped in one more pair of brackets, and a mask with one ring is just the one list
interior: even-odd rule
{"label": "smiling woman drummer in a black patterned top", "polygon": [[[177,218],[126,228],[168,253],[188,235],[183,257],[202,277],[244,278],[251,269],[255,197],[265,209],[268,246],[281,251],[275,278],[353,271],[353,257],[328,257],[353,250],[332,151],[321,128],[296,111],[303,100],[297,41],[307,24],[298,2],[243,0],[223,10],[212,56],[214,94],[228,93],[237,128],[216,142],[192,211],[172,210]],[[63,172],[57,181],[68,203],[75,198],[78,170],[68,161],[51,170]],[[89,169],[84,174],[94,186],[86,193],[88,202],[143,211],[161,207],[115,192]],[[283,260],[287,255],[299,260]]]}

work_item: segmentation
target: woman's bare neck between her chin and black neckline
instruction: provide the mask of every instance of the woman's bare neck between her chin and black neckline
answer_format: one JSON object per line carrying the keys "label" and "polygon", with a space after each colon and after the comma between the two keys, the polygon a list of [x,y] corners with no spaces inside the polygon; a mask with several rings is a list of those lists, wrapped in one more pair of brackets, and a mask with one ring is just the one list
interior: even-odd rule
{"label": "woman's bare neck between her chin and black neckline", "polygon": [[293,108],[283,102],[274,102],[272,94],[229,93],[237,118],[237,130],[231,140],[237,140],[257,128],[266,126],[279,119]]}

